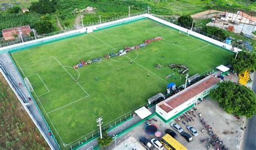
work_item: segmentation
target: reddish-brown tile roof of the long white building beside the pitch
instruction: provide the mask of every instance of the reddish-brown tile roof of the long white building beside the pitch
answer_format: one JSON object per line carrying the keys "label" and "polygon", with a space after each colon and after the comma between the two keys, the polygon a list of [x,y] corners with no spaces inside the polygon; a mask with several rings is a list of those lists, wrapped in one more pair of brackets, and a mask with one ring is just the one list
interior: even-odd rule
{"label": "reddish-brown tile roof of the long white building beside the pitch", "polygon": [[187,87],[185,90],[165,99],[163,102],[159,103],[158,106],[168,113],[201,92],[204,92],[211,86],[217,84],[219,81],[219,78],[208,76],[198,81],[196,84]]}

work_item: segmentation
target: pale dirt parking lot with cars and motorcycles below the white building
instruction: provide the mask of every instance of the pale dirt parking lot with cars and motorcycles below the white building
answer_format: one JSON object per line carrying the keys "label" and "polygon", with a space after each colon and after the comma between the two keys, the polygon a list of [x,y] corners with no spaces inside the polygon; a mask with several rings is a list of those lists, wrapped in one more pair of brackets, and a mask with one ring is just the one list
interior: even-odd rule
{"label": "pale dirt parking lot with cars and motorcycles below the white building", "polygon": [[[193,137],[193,141],[187,142],[181,135],[178,134],[177,140],[183,144],[187,149],[216,149],[216,147],[212,146],[209,148],[208,146],[210,145],[208,142],[208,138],[210,138],[210,135],[208,135],[208,132],[206,128],[203,126],[203,123],[201,123],[200,118],[198,116],[198,113],[201,113],[201,118],[204,118],[205,124],[209,125],[212,127],[213,134],[216,134],[217,137],[219,137],[220,141],[223,141],[223,145],[228,147],[228,149],[239,149],[240,148],[240,139],[242,135],[242,129],[241,125],[244,122],[245,118],[241,119],[235,119],[235,117],[231,114],[227,114],[224,112],[222,108],[219,107],[218,103],[216,101],[206,99],[202,103],[196,105],[197,111],[194,111],[193,108],[190,110],[194,111],[194,114],[197,116],[193,117],[195,121],[191,121],[189,123],[185,122],[185,125],[181,122],[178,122],[178,124],[184,129],[185,132],[192,134],[186,129],[186,126],[190,125],[193,126],[199,133],[197,137]],[[192,116],[192,115],[191,115]],[[181,115],[179,116],[179,118]],[[156,119],[157,121],[153,121],[152,119]],[[166,129],[172,129],[170,124],[172,122],[175,122],[174,120],[165,123],[162,121],[160,118],[157,117],[157,115],[154,115],[153,118],[149,119],[151,121],[150,124],[155,124],[158,127],[158,131],[162,133],[161,137],[165,135],[165,130]],[[177,120],[177,119],[176,119]],[[146,121],[143,122],[142,124],[134,127],[131,129],[129,132],[126,132],[122,136],[118,137],[116,142],[117,145],[122,142],[123,140],[129,138],[129,137],[134,137],[136,140],[139,141],[140,138],[146,137],[147,139],[151,140],[153,138],[156,138],[154,135],[149,135],[146,134],[145,132],[145,125]],[[205,125],[205,126],[206,126]],[[204,132],[202,133],[201,130],[204,128]],[[173,129],[172,129],[173,130]],[[161,139],[156,138],[158,140]],[[206,139],[206,141],[202,144],[201,141]],[[215,143],[214,143],[215,145]],[[111,146],[105,147],[102,149],[112,149],[114,147],[114,142]],[[154,148],[152,148],[154,149]],[[156,148],[155,148],[156,149]],[[166,148],[165,148],[166,149]]]}

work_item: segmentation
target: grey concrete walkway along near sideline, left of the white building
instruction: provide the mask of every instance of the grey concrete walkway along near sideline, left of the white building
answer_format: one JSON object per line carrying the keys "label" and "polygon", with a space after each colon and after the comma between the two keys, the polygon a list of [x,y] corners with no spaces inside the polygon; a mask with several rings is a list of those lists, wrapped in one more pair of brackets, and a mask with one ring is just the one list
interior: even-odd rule
{"label": "grey concrete walkway along near sideline, left of the white building", "polygon": [[[153,106],[151,108],[149,108],[150,112],[151,113],[155,113],[156,112],[156,106]],[[138,115],[136,115],[136,117],[132,118],[132,119],[129,119],[125,122],[123,122],[121,125],[111,129],[108,133],[109,135],[118,135],[122,132],[124,132],[126,129],[130,128],[131,126],[137,124],[139,121],[141,121],[142,119],[140,119],[138,117]],[[89,143],[87,143],[86,145],[82,146],[82,147],[79,147],[78,149],[79,150],[86,150],[87,148],[90,148],[92,147],[95,148],[98,146],[98,139],[94,139],[92,141],[90,141]],[[105,148],[100,148],[100,149],[107,149],[107,147]]]}

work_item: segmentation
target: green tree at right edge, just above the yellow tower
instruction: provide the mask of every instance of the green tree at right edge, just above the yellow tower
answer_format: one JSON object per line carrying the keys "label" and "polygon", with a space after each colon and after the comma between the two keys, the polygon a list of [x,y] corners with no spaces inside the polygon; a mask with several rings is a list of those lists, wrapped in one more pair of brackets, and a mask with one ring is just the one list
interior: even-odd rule
{"label": "green tree at right edge, just above the yellow tower", "polygon": [[254,71],[256,68],[256,54],[248,53],[245,51],[241,51],[237,54],[237,59],[235,59],[234,54],[233,57],[230,58],[230,63],[233,66],[233,70],[237,73],[242,73],[246,70]]}

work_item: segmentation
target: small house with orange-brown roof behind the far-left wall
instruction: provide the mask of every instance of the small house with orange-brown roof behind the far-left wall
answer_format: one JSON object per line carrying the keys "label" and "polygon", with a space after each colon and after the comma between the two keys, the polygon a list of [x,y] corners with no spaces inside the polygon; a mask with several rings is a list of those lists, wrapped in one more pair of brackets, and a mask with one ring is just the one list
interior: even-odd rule
{"label": "small house with orange-brown roof behind the far-left wall", "polygon": [[9,28],[9,29],[3,29],[2,34],[3,34],[4,40],[14,40],[15,35],[18,35],[19,31],[21,31],[22,34],[29,35],[29,33],[31,32],[31,29],[30,29],[30,26],[28,26],[28,25],[18,26],[18,27]]}

